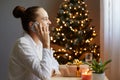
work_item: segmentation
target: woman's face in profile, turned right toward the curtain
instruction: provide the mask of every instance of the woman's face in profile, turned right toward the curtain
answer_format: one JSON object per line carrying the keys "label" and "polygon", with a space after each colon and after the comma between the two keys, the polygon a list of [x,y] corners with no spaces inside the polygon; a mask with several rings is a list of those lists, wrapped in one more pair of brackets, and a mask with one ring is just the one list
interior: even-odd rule
{"label": "woman's face in profile, turned right toward the curtain", "polygon": [[36,13],[38,14],[38,17],[36,19],[37,22],[42,24],[42,26],[49,27],[49,25],[51,24],[51,21],[49,20],[49,16],[47,12],[43,8],[39,8]]}

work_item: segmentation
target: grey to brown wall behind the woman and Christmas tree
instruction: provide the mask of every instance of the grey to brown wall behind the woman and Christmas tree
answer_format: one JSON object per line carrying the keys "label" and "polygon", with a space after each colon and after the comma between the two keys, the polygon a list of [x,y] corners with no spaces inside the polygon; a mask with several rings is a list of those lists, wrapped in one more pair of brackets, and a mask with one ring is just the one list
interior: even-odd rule
{"label": "grey to brown wall behind the woman and Christmas tree", "polygon": [[[9,54],[15,40],[22,34],[20,19],[12,16],[13,8],[17,5],[26,8],[33,5],[42,6],[48,11],[50,19],[53,22],[52,26],[55,26],[56,13],[62,1],[63,0],[0,0],[0,80],[8,80]],[[88,0],[87,4],[90,17],[93,19],[92,24],[97,26],[96,32],[99,33],[99,1]],[[97,41],[99,41],[99,37]]]}

